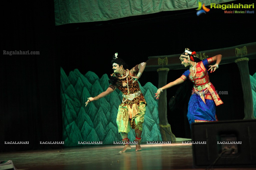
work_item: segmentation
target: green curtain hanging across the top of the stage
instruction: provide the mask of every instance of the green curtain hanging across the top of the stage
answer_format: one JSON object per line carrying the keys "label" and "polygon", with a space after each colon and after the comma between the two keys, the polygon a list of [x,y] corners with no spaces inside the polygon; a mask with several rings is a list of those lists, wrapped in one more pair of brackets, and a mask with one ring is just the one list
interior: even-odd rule
{"label": "green curtain hanging across the top of the stage", "polygon": [[231,0],[55,0],[55,25],[94,22],[123,17],[198,8]]}

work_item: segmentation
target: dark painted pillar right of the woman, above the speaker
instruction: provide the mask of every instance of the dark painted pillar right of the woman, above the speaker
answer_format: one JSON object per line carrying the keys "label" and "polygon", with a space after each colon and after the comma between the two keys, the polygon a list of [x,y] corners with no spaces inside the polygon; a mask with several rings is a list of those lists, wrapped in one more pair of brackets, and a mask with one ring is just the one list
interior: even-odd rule
{"label": "dark painted pillar right of the woman, above the speaker", "polygon": [[239,58],[235,62],[238,65],[244,100],[244,119],[255,119],[253,115],[253,100],[252,100],[252,89],[248,67],[249,58]]}

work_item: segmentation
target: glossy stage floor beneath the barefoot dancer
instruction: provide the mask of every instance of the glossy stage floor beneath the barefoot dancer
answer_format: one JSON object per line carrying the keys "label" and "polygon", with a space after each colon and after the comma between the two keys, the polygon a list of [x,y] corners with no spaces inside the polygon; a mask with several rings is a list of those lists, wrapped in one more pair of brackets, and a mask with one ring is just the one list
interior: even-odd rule
{"label": "glossy stage floor beneath the barefoot dancer", "polygon": [[[0,153],[0,161],[12,160],[18,170],[83,170],[83,169],[194,169],[192,144],[141,144],[141,151],[119,153],[123,145],[83,146],[52,150]],[[198,170],[206,168],[196,168]],[[211,167],[209,168],[211,169]],[[248,170],[244,168],[212,168]]]}

